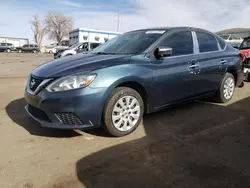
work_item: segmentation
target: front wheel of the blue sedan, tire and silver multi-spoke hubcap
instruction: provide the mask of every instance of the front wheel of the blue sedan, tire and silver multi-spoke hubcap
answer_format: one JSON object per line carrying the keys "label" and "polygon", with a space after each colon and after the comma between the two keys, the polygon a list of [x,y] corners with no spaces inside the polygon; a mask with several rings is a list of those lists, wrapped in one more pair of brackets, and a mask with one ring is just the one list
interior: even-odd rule
{"label": "front wheel of the blue sedan, tire and silver multi-spoke hubcap", "polygon": [[[132,105],[131,107],[125,104],[127,103],[126,99],[129,99],[128,103]],[[121,102],[124,108],[119,105]],[[126,110],[124,110],[125,108]],[[116,109],[119,109],[119,111]],[[139,126],[143,114],[143,100],[137,91],[128,87],[115,88],[109,95],[104,107],[104,128],[109,134],[115,137],[128,135]],[[119,116],[119,118],[115,116]],[[125,122],[127,126],[125,126]]]}

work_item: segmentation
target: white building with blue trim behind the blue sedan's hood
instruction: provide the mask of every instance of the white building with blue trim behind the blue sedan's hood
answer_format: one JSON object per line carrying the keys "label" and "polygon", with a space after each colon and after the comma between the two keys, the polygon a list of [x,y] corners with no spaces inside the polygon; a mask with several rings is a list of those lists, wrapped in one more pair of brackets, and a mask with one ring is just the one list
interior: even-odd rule
{"label": "white building with blue trim behind the blue sedan's hood", "polygon": [[121,33],[113,31],[102,31],[95,29],[77,28],[69,33],[69,44],[76,44],[79,42],[100,42],[104,43],[111,38],[114,38]]}

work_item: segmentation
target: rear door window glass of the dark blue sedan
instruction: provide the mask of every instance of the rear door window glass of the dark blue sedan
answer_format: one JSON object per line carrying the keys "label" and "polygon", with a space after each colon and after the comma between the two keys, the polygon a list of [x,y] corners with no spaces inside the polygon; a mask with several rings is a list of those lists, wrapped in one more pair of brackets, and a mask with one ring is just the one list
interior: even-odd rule
{"label": "rear door window glass of the dark blue sedan", "polygon": [[212,51],[218,51],[218,43],[217,40],[213,35],[202,33],[202,32],[196,32],[198,43],[199,43],[199,49],[200,52],[212,52]]}

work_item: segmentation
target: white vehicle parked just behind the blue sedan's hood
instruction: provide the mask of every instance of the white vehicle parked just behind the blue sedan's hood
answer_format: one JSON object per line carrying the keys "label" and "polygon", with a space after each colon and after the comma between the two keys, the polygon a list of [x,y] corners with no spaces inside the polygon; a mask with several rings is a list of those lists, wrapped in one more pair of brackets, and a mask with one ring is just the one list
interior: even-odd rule
{"label": "white vehicle parked just behind the blue sedan's hood", "polygon": [[87,52],[95,49],[100,44],[101,43],[93,43],[93,42],[78,43],[78,44],[72,45],[67,50],[58,51],[58,53],[54,54],[54,59],[57,59],[60,57],[65,57],[65,56],[75,55],[77,53],[87,53]]}

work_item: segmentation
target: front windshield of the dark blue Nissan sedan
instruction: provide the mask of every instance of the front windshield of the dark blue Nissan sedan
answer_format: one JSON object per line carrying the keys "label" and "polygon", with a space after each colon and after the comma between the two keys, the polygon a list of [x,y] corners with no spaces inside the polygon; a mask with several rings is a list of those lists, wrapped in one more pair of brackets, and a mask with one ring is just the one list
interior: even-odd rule
{"label": "front windshield of the dark blue Nissan sedan", "polygon": [[98,46],[92,52],[99,54],[137,54],[145,51],[166,30],[132,31],[117,36]]}

